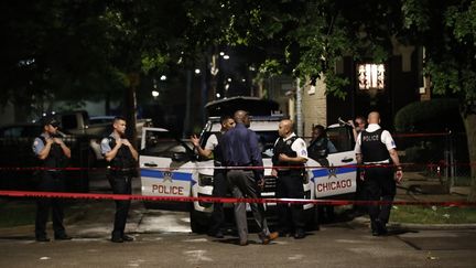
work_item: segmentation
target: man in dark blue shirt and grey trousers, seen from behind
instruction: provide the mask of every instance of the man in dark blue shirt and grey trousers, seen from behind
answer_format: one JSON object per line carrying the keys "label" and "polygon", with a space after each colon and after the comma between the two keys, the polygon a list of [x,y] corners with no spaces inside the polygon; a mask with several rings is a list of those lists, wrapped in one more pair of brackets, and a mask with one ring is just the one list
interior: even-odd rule
{"label": "man in dark blue shirt and grey trousers, seen from behind", "polygon": [[[250,119],[245,110],[237,110],[234,116],[236,127],[228,130],[221,138],[221,151],[227,172],[228,183],[234,197],[259,199],[259,184],[263,185],[263,167],[261,150],[257,135],[248,129]],[[252,169],[257,167],[258,169]],[[251,203],[251,211],[258,227],[261,229],[259,238],[262,244],[269,244],[278,238],[278,233],[270,233],[264,218],[264,207],[261,203]],[[235,219],[238,228],[239,244],[248,245],[248,223],[246,203],[235,204]]]}

